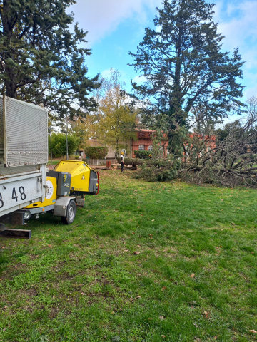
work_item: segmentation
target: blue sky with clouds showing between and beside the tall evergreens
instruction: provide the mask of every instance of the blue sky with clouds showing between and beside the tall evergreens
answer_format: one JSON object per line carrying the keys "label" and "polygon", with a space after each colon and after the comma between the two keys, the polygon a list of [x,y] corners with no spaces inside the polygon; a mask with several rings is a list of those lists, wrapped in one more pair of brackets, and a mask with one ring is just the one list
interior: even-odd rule
{"label": "blue sky with clouds showing between and beside the tall evergreens", "polygon": [[[128,63],[133,63],[129,51],[135,53],[142,41],[144,29],[153,27],[156,7],[161,0],[76,0],[71,7],[79,27],[89,31],[86,48],[92,55],[86,58],[89,77],[96,73],[110,76],[109,69],[117,68],[127,90],[130,80],[138,81],[139,74]],[[257,96],[257,0],[216,1],[213,20],[219,22],[218,31],[226,38],[223,50],[239,53],[246,63],[243,66],[243,80],[246,86],[244,98]]]}

